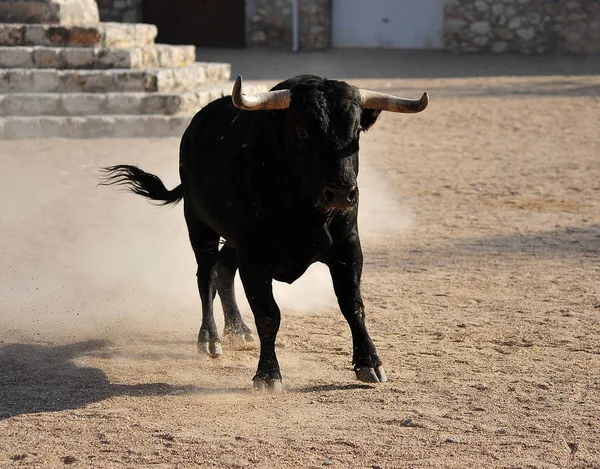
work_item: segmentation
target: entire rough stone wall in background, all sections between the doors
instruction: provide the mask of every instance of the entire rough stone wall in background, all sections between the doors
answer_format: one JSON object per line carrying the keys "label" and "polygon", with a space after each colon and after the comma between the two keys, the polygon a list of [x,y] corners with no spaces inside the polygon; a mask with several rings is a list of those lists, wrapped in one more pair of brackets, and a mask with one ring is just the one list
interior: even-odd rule
{"label": "entire rough stone wall in background, all sections between the doors", "polygon": [[[328,49],[332,0],[298,1],[300,50]],[[142,21],[143,0],[97,2],[102,21]],[[445,0],[444,41],[455,53],[600,54],[600,0]],[[246,0],[246,45],[291,50],[292,0]]]}

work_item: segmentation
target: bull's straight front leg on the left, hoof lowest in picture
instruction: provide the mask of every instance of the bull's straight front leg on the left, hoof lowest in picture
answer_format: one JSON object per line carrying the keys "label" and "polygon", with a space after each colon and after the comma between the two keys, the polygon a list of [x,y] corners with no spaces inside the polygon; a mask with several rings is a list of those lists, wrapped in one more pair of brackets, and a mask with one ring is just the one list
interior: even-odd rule
{"label": "bull's straight front leg on the left, hoof lowest in picture", "polygon": [[275,339],[281,315],[273,297],[273,277],[269,266],[240,259],[240,278],[254,314],[260,339],[260,358],[254,388],[261,391],[281,392],[281,372],[275,355]]}

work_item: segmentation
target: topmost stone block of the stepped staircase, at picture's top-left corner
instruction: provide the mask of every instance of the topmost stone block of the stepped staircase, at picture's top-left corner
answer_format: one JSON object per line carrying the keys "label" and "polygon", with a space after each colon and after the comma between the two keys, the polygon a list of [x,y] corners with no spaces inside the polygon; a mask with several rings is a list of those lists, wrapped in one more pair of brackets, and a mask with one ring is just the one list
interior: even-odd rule
{"label": "topmost stone block of the stepped staircase, at picture's top-left corner", "polygon": [[0,0],[1,23],[94,24],[95,0]]}

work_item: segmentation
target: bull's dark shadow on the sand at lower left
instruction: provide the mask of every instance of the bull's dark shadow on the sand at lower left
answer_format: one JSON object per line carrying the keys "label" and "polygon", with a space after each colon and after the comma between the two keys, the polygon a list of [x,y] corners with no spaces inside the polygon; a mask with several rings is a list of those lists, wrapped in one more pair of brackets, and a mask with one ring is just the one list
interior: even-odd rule
{"label": "bull's dark shadow on the sand at lower left", "polygon": [[0,419],[77,409],[113,396],[211,392],[166,383],[113,384],[102,370],[79,366],[73,361],[107,345],[103,340],[88,340],[61,346],[7,344],[1,347]]}

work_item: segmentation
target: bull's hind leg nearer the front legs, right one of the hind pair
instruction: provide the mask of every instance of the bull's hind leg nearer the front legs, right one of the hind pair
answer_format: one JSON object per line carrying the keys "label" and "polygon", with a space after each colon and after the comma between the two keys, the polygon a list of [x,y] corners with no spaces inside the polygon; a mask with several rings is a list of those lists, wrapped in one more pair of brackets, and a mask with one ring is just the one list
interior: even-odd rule
{"label": "bull's hind leg nearer the front legs, right one of the hind pair", "polygon": [[227,243],[219,251],[217,267],[217,291],[223,306],[225,328],[223,335],[234,346],[244,346],[254,342],[250,328],[244,323],[235,300],[235,273],[238,268],[237,253]]}

